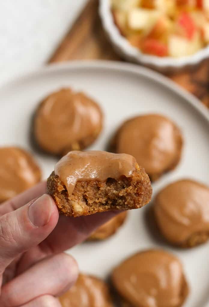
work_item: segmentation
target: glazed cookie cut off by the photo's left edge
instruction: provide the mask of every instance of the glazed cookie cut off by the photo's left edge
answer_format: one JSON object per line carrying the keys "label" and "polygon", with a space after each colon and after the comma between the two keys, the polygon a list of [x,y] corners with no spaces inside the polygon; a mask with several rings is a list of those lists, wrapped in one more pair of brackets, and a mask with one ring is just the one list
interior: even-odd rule
{"label": "glazed cookie cut off by the photo's left edge", "polygon": [[0,147],[0,203],[41,180],[41,170],[26,150]]}

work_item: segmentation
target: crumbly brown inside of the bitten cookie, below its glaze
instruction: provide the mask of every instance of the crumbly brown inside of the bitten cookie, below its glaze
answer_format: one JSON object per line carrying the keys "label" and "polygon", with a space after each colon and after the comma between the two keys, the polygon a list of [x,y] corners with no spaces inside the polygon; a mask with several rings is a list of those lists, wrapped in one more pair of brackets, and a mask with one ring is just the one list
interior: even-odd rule
{"label": "crumbly brown inside of the bitten cookie, below its glaze", "polygon": [[59,212],[77,217],[109,210],[141,208],[151,200],[152,187],[144,169],[137,165],[132,177],[108,178],[105,182],[77,181],[70,196],[53,171],[47,180],[47,192],[55,200]]}

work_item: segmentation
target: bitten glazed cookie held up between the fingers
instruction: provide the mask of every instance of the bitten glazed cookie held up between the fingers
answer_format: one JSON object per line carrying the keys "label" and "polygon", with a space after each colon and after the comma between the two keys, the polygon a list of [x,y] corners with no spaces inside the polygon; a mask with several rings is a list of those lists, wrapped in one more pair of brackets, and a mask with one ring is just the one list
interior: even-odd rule
{"label": "bitten glazed cookie held up between the fingers", "polygon": [[105,151],[69,152],[55,165],[47,190],[66,216],[141,208],[152,195],[134,157]]}

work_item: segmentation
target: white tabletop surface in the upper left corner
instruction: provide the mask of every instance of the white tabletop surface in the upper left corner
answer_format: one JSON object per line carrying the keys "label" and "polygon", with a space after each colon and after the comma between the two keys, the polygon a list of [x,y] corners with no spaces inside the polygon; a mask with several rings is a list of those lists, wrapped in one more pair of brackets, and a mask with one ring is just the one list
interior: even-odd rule
{"label": "white tabletop surface in the upper left corner", "polygon": [[0,86],[26,70],[43,65],[85,2],[0,1]]}

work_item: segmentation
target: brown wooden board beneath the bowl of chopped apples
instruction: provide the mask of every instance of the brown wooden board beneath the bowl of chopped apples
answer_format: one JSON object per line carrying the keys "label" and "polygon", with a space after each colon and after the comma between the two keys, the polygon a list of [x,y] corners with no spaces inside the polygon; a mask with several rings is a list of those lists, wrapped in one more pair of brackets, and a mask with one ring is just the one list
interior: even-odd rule
{"label": "brown wooden board beneath the bowl of chopped apples", "polygon": [[[78,59],[118,60],[102,29],[98,0],[89,0],[49,63]],[[209,60],[181,73],[169,75],[209,107]]]}

